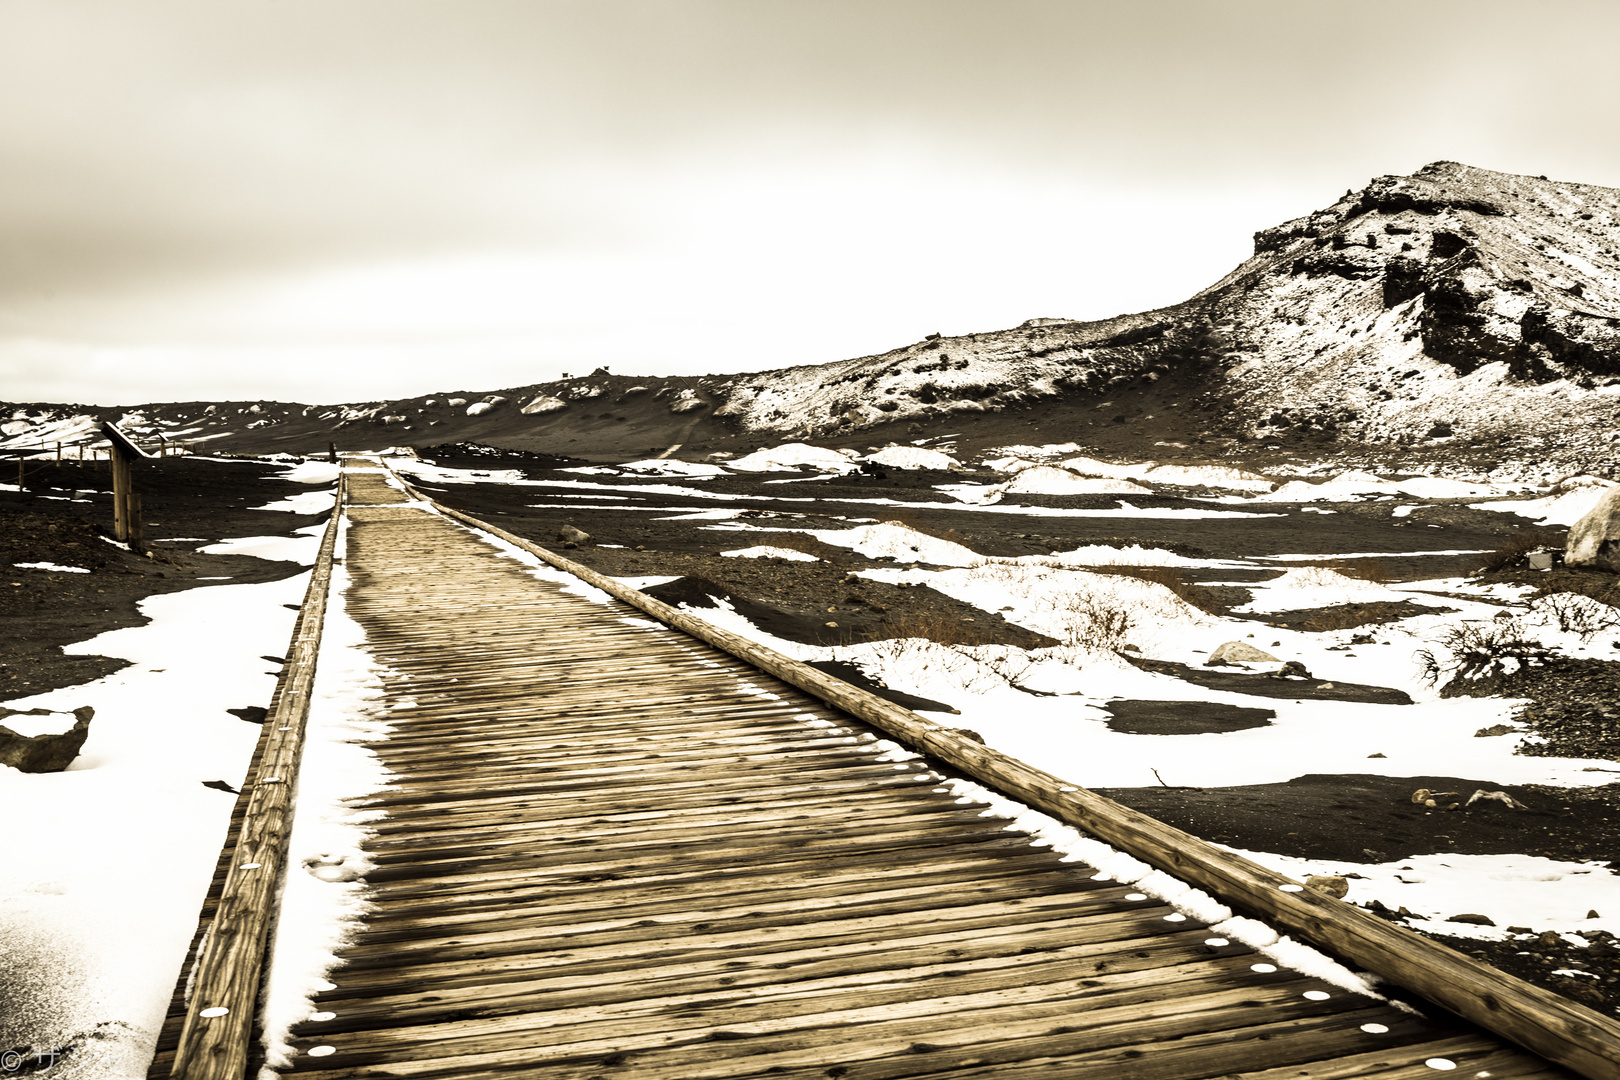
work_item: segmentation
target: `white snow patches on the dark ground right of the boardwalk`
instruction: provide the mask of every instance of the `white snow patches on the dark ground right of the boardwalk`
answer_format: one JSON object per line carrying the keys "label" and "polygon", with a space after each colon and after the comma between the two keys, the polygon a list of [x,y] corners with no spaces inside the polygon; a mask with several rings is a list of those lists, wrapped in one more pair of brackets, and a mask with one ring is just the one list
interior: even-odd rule
{"label": "white snow patches on the dark ground right of the boardwalk", "polygon": [[[1022,478],[1061,473],[1056,486],[1097,478],[1131,476],[1152,483],[1165,476],[1152,461],[1115,470],[1097,460],[1042,465],[1043,447],[1019,447],[1027,457],[1006,455],[990,461],[1013,478],[998,484],[1008,491]],[[1071,447],[1059,447],[1072,450]],[[1074,466],[1084,468],[1084,473]],[[1353,502],[1367,497],[1481,499],[1476,504],[1513,513],[1549,512],[1547,520],[1568,523],[1584,513],[1609,483],[1580,478],[1552,494],[1529,500],[1508,499],[1524,486],[1486,486],[1447,478],[1418,476],[1398,481],[1366,473],[1338,473],[1320,484],[1294,481],[1268,491],[1270,481],[1254,476],[1197,474],[1207,486],[1247,484],[1251,502],[1306,504],[1325,497]],[[1132,481],[1132,483],[1134,483]],[[1176,473],[1174,483],[1192,478]],[[1218,483],[1225,481],[1225,484]],[[1168,478],[1162,483],[1171,483]],[[1038,486],[1032,486],[1038,489]],[[985,489],[982,489],[985,491]],[[961,495],[957,487],[951,494]],[[1533,492],[1534,494],[1534,492]],[[964,499],[978,504],[978,499]],[[1000,510],[1001,507],[985,507]],[[1124,504],[1124,510],[1129,504]],[[1281,507],[1280,507],[1281,508]],[[1029,508],[1025,508],[1029,510]],[[1299,512],[1314,512],[1302,505]],[[1149,517],[1137,512],[1137,517]],[[1534,515],[1541,517],[1541,515]],[[750,534],[781,533],[786,525],[723,526]],[[1016,758],[1087,787],[1171,785],[1223,787],[1272,784],[1304,774],[1364,772],[1377,776],[1469,776],[1495,784],[1547,784],[1592,787],[1620,777],[1620,763],[1570,758],[1533,758],[1513,753],[1523,732],[1511,724],[1516,701],[1498,698],[1440,699],[1422,670],[1419,651],[1432,648],[1448,631],[1492,620],[1502,602],[1516,604],[1513,617],[1536,640],[1567,656],[1612,659],[1607,638],[1560,630],[1560,619],[1545,602],[1524,604],[1524,589],[1481,588],[1468,580],[1432,580],[1382,585],[1320,565],[1319,555],[1270,555],[1247,560],[1191,559],[1162,549],[1081,549],[1050,557],[990,559],[962,544],[938,539],[894,521],[852,525],[844,529],[804,529],[816,539],[849,547],[868,559],[894,560],[894,568],[872,568],[860,576],[893,585],[927,585],[980,610],[995,612],[1038,633],[1059,640],[1050,649],[1011,646],[944,646],[927,640],[873,641],[852,646],[807,646],[774,638],[727,609],[698,614],[729,630],[805,661],[849,661],[881,685],[944,701],[957,714],[938,714],[943,724],[967,727]],[[1460,552],[1452,552],[1460,554]],[[1387,554],[1385,554],[1387,555]],[[1354,555],[1335,555],[1343,565]],[[1171,594],[1165,586],[1136,578],[1090,572],[1100,565],[1179,565],[1209,568],[1275,568],[1265,581],[1244,581],[1252,601],[1233,615],[1215,617]],[[1476,593],[1479,602],[1460,599]],[[1243,615],[1301,610],[1353,602],[1406,601],[1419,610],[1393,623],[1341,631],[1304,631],[1264,627]],[[1450,612],[1443,607],[1453,609]],[[1371,631],[1372,641],[1353,644]],[[1200,665],[1225,641],[1256,644],[1277,662],[1244,665],[1252,672],[1275,670],[1281,662],[1302,664],[1315,680],[1343,680],[1406,691],[1414,704],[1366,704],[1353,701],[1278,699],[1217,691],[1189,682],[1140,670],[1115,649],[1132,646],[1144,656]],[[1204,735],[1132,735],[1108,727],[1106,704],[1118,699],[1207,701],[1275,711],[1275,719],[1256,729]],[[1508,733],[1477,737],[1505,725]],[[1406,907],[1419,916],[1445,918],[1456,910],[1490,916],[1497,928],[1447,923],[1447,933],[1502,936],[1507,926],[1541,929],[1609,929],[1620,933],[1620,879],[1604,863],[1560,863],[1529,857],[1424,857],[1422,873],[1392,866],[1349,866],[1330,860],[1288,860],[1254,855],[1285,873],[1361,874],[1353,900],[1377,899],[1390,908]],[[1482,889],[1482,882],[1495,882]],[[1468,897],[1464,904],[1463,899]],[[1589,910],[1599,918],[1586,918]],[[1463,929],[1458,929],[1458,928]]]}

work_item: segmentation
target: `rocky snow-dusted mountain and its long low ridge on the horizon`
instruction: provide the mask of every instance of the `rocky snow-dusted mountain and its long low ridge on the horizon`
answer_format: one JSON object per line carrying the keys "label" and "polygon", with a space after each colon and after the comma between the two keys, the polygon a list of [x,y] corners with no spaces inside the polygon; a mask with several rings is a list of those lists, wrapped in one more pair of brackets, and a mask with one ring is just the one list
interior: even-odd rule
{"label": "rocky snow-dusted mountain and its long low ridge on the horizon", "polygon": [[818,366],[703,379],[598,371],[342,406],[10,411],[0,432],[13,444],[83,431],[91,416],[258,452],[475,439],[611,455],[1029,429],[1105,449],[1336,442],[1614,471],[1620,191],[1435,162],[1256,233],[1251,259],[1171,308],[930,335]]}

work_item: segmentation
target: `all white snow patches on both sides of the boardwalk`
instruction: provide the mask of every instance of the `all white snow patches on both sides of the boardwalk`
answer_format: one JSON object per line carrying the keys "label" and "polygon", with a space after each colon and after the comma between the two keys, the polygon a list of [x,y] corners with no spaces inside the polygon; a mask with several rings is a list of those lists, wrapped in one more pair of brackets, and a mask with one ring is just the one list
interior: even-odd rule
{"label": "all white snow patches on both sides of the boardwalk", "polygon": [[[1022,453],[998,460],[996,468],[1008,478],[998,487],[1006,491],[1021,476],[1038,476],[1043,470],[1084,481],[1072,461],[1077,449],[1072,444],[1056,449],[1056,453],[1047,453],[1048,449],[1043,447],[1009,449]],[[1071,455],[1071,460],[1050,463],[1058,455]],[[735,520],[740,510],[714,507],[718,499],[745,507],[766,495],[721,495],[700,484],[739,466],[760,471],[797,470],[804,465],[839,471],[859,466],[849,455],[838,458],[834,461],[799,449],[778,447],[771,453],[761,452],[747,465],[637,461],[604,471],[684,481],[637,481],[635,487],[697,504],[690,510],[664,512],[659,517],[706,518],[714,523],[713,528],[727,534],[745,533],[748,539],[761,541],[757,547],[727,551],[729,555],[813,559],[771,544],[773,538],[791,531],[789,526],[744,523]],[[888,468],[941,468],[936,458],[896,453],[893,449],[868,460]],[[559,497],[577,492],[577,497],[590,499],[591,505],[625,512],[637,508],[616,502],[624,500],[624,495],[614,494],[620,487],[608,483],[606,476],[601,481],[525,481],[509,471],[444,470],[410,458],[397,465],[428,483],[517,484]],[[1152,461],[1129,465],[1126,478],[1106,476],[1098,465],[1106,463],[1087,461],[1094,481],[1183,489],[1194,483],[1194,476],[1186,473],[1160,473],[1160,466]],[[332,466],[296,466],[288,470],[288,476],[318,489],[264,508],[311,513],[330,505],[330,491],[326,487],[335,479]],[[1304,494],[1315,497],[1319,489],[1340,484],[1346,495],[1353,492],[1359,497],[1398,494],[1419,500],[1464,500],[1495,495],[1477,505],[1515,513],[1542,510],[1545,513],[1539,517],[1562,521],[1573,520],[1570,515],[1580,505],[1596,502],[1605,489],[1604,481],[1570,483],[1557,491],[1528,492],[1529,499],[1505,499],[1503,495],[1526,492],[1503,487],[1484,492],[1479,484],[1421,483],[1424,479],[1406,478],[1395,483],[1377,476],[1336,476],[1311,486],[1311,492]],[[1290,504],[1304,499],[1280,499],[1290,484],[1275,492],[1262,491],[1262,484],[1272,483],[1265,478],[1197,474],[1197,483],[1228,492],[1241,491],[1244,502],[1264,505],[1265,513],[1317,508],[1299,505],[1291,510]],[[787,502],[797,497],[770,495],[770,500]],[[818,500],[810,497],[802,502]],[[854,510],[863,505],[897,505],[883,499],[841,502],[850,504]],[[985,505],[977,499],[953,497],[953,492],[941,492],[938,504],[925,505],[978,513],[1094,513],[1119,518],[1231,513],[1230,507],[1213,505],[1209,510],[1147,512],[1129,504],[1102,512],[1040,510]],[[1280,782],[1307,772],[1369,772],[1588,787],[1609,784],[1620,776],[1620,763],[1515,755],[1520,733],[1511,730],[1505,735],[1477,737],[1476,732],[1494,725],[1511,729],[1515,703],[1492,698],[1440,699],[1434,687],[1424,682],[1418,651],[1432,646],[1450,628],[1490,620],[1502,610],[1503,601],[1518,604],[1513,617],[1528,631],[1563,653],[1612,657],[1607,638],[1583,638],[1560,630],[1557,614],[1549,606],[1524,604],[1510,588],[1495,586],[1487,594],[1486,589],[1455,578],[1371,583],[1335,570],[1301,565],[1319,560],[1307,554],[1194,559],[1157,547],[1092,546],[1050,555],[987,559],[962,544],[893,521],[850,520],[850,528],[802,531],[872,559],[893,560],[893,567],[860,572],[863,576],[928,585],[985,612],[1047,633],[1061,644],[1017,649],[897,640],[820,648],[773,638],[724,607],[698,614],[789,656],[849,661],[891,688],[949,703],[959,714],[938,714],[935,719],[951,727],[972,729],[991,746],[1081,785],[1140,787],[1168,782],[1221,787]],[[243,538],[204,551],[311,562],[318,539],[319,528],[306,528],[295,536]],[[514,557],[528,559],[518,552]],[[1233,615],[1210,615],[1187,606],[1162,585],[1094,570],[1105,565],[1267,568],[1275,576],[1244,580],[1244,588],[1252,589],[1252,601]],[[539,567],[533,573],[562,580],[556,572]],[[666,578],[646,578],[638,585],[661,580]],[[63,730],[71,724],[66,716],[70,709],[83,704],[96,708],[84,751],[66,772],[29,776],[0,769],[0,814],[11,823],[28,823],[28,827],[0,832],[0,858],[11,868],[0,881],[0,925],[6,936],[0,975],[8,989],[16,988],[13,1001],[31,1002],[31,1017],[37,1017],[36,1028],[8,1018],[6,1031],[19,1031],[13,1038],[53,1044],[89,1031],[102,1035],[89,1043],[94,1056],[81,1054],[76,1064],[63,1062],[62,1070],[52,1075],[97,1080],[144,1075],[146,1054],[168,1004],[232,810],[233,797],[204,787],[204,782],[240,785],[259,733],[258,727],[235,719],[225,709],[269,699],[275,674],[259,657],[285,649],[295,619],[287,606],[298,604],[305,581],[306,576],[300,575],[267,585],[211,585],[149,597],[141,606],[143,614],[152,620],[149,625],[100,635],[71,649],[126,657],[133,661],[130,667],[94,683],[6,703],[16,709],[57,709],[55,717],[39,717],[37,730]],[[599,597],[577,583],[570,588]],[[1460,599],[1471,591],[1481,597],[1479,602]],[[1374,599],[1409,601],[1421,614],[1371,628],[1322,633],[1260,627],[1243,617]],[[1492,602],[1484,602],[1487,599]],[[1453,610],[1440,610],[1442,604]],[[1372,641],[1353,643],[1358,631],[1371,631]],[[1226,641],[1254,644],[1278,662],[1299,662],[1319,680],[1405,690],[1416,704],[1259,698],[1207,690],[1132,667],[1116,651],[1129,646],[1153,659],[1202,665],[1210,651]],[[300,803],[309,813],[300,816],[293,837],[293,861],[308,861],[316,871],[324,866],[342,870],[353,861],[364,821],[347,818],[335,808],[335,801],[379,779],[374,763],[347,742],[355,732],[373,730],[377,722],[369,695],[376,691],[381,674],[369,665],[358,643],[358,630],[345,622],[342,606],[334,604],[311,712],[311,751],[303,780],[306,787],[300,792]],[[1275,664],[1247,667],[1260,672]],[[1106,706],[1118,699],[1249,706],[1275,711],[1275,719],[1264,727],[1228,733],[1132,735],[1115,730],[1106,722]],[[11,717],[8,724],[23,730],[28,719],[34,717]],[[988,798],[983,792],[967,789],[962,795]],[[1024,824],[1034,821],[1004,800],[990,801],[987,813],[1019,818]],[[1034,823],[1032,827],[1050,832],[1056,826]],[[1082,840],[1084,837],[1076,836],[1064,842],[1089,861],[1106,861],[1106,852],[1087,848]],[[1529,855],[1439,853],[1388,865],[1349,865],[1267,852],[1246,853],[1301,879],[1320,873],[1359,874],[1351,878],[1353,902],[1377,899],[1392,908],[1406,907],[1418,916],[1432,920],[1443,920],[1455,910],[1469,910],[1497,923],[1497,928],[1437,925],[1452,934],[1502,934],[1507,926],[1620,933],[1620,902],[1615,902],[1620,881],[1604,863],[1555,861]],[[1097,865],[1106,870],[1113,863]],[[324,978],[322,965],[329,959],[334,934],[340,933],[343,918],[363,905],[358,886],[330,881],[330,876],[292,874],[292,915],[284,920],[288,938],[272,983],[272,1027],[305,1015],[301,1010],[306,1010],[308,993],[318,989]],[[1221,915],[1213,910],[1218,905],[1210,907],[1213,902],[1207,897],[1186,894],[1184,887],[1178,891],[1168,879],[1158,882],[1145,871],[1132,878],[1123,870],[1116,876],[1121,881],[1140,878],[1140,887],[1184,904],[1184,910],[1202,912],[1200,916],[1215,921],[1230,918],[1230,912]],[[1586,918],[1589,910],[1601,912],[1601,916]],[[1247,933],[1244,941],[1267,944],[1260,941],[1264,933],[1246,931],[1241,925],[1233,925],[1231,931],[1231,936],[1239,938]],[[1288,942],[1270,942],[1267,947],[1280,957],[1294,955]],[[1298,957],[1290,962],[1306,967],[1317,963]],[[1348,973],[1345,978],[1349,978]]]}

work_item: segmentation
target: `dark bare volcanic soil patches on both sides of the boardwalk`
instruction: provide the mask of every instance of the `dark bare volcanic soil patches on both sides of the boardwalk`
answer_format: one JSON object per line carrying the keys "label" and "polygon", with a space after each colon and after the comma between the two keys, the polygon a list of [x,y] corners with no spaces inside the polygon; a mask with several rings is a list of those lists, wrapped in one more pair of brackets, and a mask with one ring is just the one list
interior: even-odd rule
{"label": "dark bare volcanic soil patches on both sides of the boardwalk", "polygon": [[[1032,432],[1034,436],[1034,432]],[[518,468],[536,481],[564,481],[546,486],[502,484],[423,484],[437,499],[468,513],[562,551],[614,576],[672,578],[651,593],[672,602],[708,606],[726,601],[761,628],[782,638],[834,644],[888,636],[932,636],[964,644],[1009,643],[1047,644],[1045,638],[954,601],[933,589],[899,588],[852,576],[854,570],[893,562],[873,562],[842,547],[831,547],[791,531],[723,531],[713,528],[734,520],[758,528],[844,528],[855,518],[901,520],[923,531],[964,544],[980,554],[1029,555],[1082,544],[1124,546],[1140,542],[1189,555],[1236,554],[1320,554],[1324,563],[1364,567],[1383,578],[1430,578],[1461,573],[1477,565],[1477,555],[1422,555],[1445,549],[1494,549],[1524,528],[1508,515],[1464,512],[1455,507],[1427,507],[1406,518],[1393,518],[1392,504],[1336,505],[1333,515],[1285,513],[1281,517],[1231,515],[1220,518],[1081,518],[1051,517],[1043,508],[1115,507],[1113,499],[1032,499],[1024,507],[1000,505],[993,512],[953,510],[933,487],[944,483],[988,483],[988,474],[904,473],[886,478],[849,476],[799,483],[791,474],[697,481],[682,478],[608,478],[559,471],[573,461],[512,452],[480,453],[455,447],[439,455],[455,468]],[[109,544],[100,529],[110,528],[107,474],[89,466],[40,466],[31,473],[29,494],[0,492],[0,701],[21,698],[52,687],[94,678],[122,665],[105,657],[66,657],[62,644],[83,641],[102,630],[141,622],[136,602],[152,593],[191,588],[199,578],[228,576],[259,581],[296,573],[293,563],[267,563],[246,557],[201,555],[199,541],[228,536],[288,534],[319,521],[285,512],[251,507],[308,491],[301,484],[274,479],[275,468],[258,461],[199,461],[167,458],[143,466],[143,499],[147,518],[149,554]],[[65,500],[73,491],[91,491],[87,500]],[[1038,504],[1038,505],[1037,505]],[[1132,505],[1194,505],[1178,499],[1132,499]],[[1209,504],[1197,504],[1207,507]],[[706,510],[710,513],[698,515]],[[731,517],[740,512],[740,517]],[[557,529],[582,528],[593,542],[564,549]],[[1442,525],[1442,528],[1426,528]],[[820,562],[787,559],[732,559],[719,552],[758,544],[779,544],[815,554]],[[1346,554],[1382,554],[1372,560],[1348,560]],[[75,565],[91,573],[62,573],[13,568],[16,562]],[[1371,563],[1371,565],[1369,565]],[[1278,565],[1277,573],[1285,567]],[[1243,581],[1267,572],[1174,572],[1166,578],[1191,602],[1210,609],[1241,604],[1247,597]],[[1209,589],[1199,580],[1223,585]],[[1158,578],[1155,578],[1158,580]],[[1286,612],[1267,615],[1272,622],[1311,619],[1333,620],[1335,627],[1377,625],[1401,612],[1379,606],[1358,610]],[[1257,622],[1256,627],[1264,623]],[[1612,677],[1614,665],[1604,667]],[[854,669],[836,670],[842,677]],[[1189,682],[1215,685],[1220,680],[1260,680],[1234,670],[1197,669],[1184,672]],[[1379,687],[1340,683],[1319,688],[1317,680],[1272,680],[1278,693],[1299,696],[1361,696],[1380,699],[1392,695]],[[1221,683],[1225,685],[1225,683]],[[1244,682],[1252,693],[1252,683]],[[953,703],[932,703],[873,687],[910,708],[944,709]],[[1523,693],[1516,688],[1515,693]],[[1533,709],[1557,716],[1570,740],[1597,738],[1586,711],[1557,712],[1560,683],[1529,687]],[[1592,691],[1596,695],[1597,691]],[[1592,708],[1604,701],[1588,695]],[[1405,695],[1401,695],[1405,696]],[[1393,698],[1390,698],[1393,699]],[[1234,730],[1268,722],[1265,709],[1209,706],[1178,711],[1166,703],[1116,703],[1113,724],[1119,730],[1153,732],[1166,738],[1181,730]],[[1550,729],[1549,729],[1550,730]],[[1562,743],[1560,743],[1562,745]],[[1597,753],[1597,750],[1591,750]],[[1601,764],[1601,763],[1599,763]],[[1123,789],[1106,795],[1152,813],[1205,839],[1236,848],[1278,852],[1298,857],[1332,857],[1382,861],[1434,852],[1521,852],[1568,860],[1615,860],[1620,857],[1620,785],[1591,792],[1552,789],[1507,789],[1529,806],[1510,811],[1498,803],[1476,805],[1468,811],[1435,811],[1416,806],[1411,792],[1461,790],[1500,785],[1468,777],[1377,777],[1362,774],[1309,776],[1286,784],[1230,789]],[[1374,858],[1377,857],[1377,858]],[[1594,946],[1571,957],[1562,941],[1524,938],[1503,944],[1456,942],[1486,955],[1503,968],[1544,986],[1568,993],[1589,1004],[1620,1006],[1615,983],[1592,983],[1555,976],[1554,970],[1580,967],[1597,972],[1602,957],[1612,957],[1612,942]],[[1605,952],[1607,950],[1607,952]],[[1523,954],[1523,955],[1520,955]],[[1612,960],[1610,960],[1612,963]],[[1599,967],[1594,967],[1599,965]],[[1604,978],[1620,975],[1604,968]]]}

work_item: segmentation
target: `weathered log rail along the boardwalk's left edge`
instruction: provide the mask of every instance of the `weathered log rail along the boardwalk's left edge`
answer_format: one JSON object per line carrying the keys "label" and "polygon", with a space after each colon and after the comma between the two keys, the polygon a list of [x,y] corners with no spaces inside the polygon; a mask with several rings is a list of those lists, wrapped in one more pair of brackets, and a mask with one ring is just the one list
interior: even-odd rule
{"label": "weathered log rail along the boardwalk's left edge", "polygon": [[298,763],[332,585],[332,555],[343,517],[343,494],[345,479],[339,476],[332,517],[321,536],[321,552],[293,627],[275,706],[264,719],[259,766],[243,784],[248,806],[230,853],[230,870],[191,973],[185,1027],[168,1074],[175,1078],[241,1080],[248,1069],[264,978],[266,938],[285,874]]}

